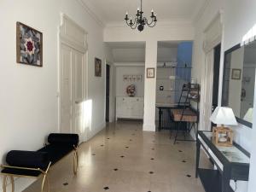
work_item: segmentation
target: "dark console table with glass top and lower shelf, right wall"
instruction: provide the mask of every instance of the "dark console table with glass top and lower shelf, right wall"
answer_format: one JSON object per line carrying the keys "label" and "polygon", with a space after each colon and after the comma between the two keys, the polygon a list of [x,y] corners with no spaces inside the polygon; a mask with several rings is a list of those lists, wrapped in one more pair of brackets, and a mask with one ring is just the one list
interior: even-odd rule
{"label": "dark console table with glass top and lower shelf, right wall", "polygon": [[[217,170],[199,167],[201,147],[205,149]],[[249,154],[236,143],[232,147],[220,147],[212,139],[212,132],[198,131],[195,177],[201,178],[206,192],[233,192],[230,180],[247,181],[249,162]]]}

